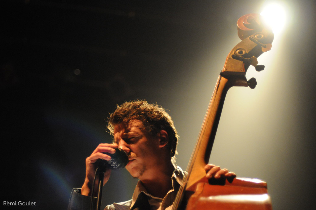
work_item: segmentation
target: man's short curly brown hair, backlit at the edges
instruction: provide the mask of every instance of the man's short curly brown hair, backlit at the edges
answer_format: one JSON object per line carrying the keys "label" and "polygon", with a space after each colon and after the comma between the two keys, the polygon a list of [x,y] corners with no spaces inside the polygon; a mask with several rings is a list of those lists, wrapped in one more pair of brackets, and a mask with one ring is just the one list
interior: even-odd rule
{"label": "man's short curly brown hair, backlit at the edges", "polygon": [[124,102],[122,105],[117,105],[116,110],[110,114],[107,122],[107,128],[113,135],[114,126],[121,122],[128,123],[130,120],[140,120],[146,131],[151,136],[156,136],[161,130],[168,133],[169,141],[167,148],[170,149],[170,157],[173,162],[174,155],[178,154],[178,133],[174,127],[170,115],[164,108],[158,104],[149,104],[144,100]]}

